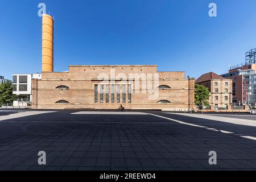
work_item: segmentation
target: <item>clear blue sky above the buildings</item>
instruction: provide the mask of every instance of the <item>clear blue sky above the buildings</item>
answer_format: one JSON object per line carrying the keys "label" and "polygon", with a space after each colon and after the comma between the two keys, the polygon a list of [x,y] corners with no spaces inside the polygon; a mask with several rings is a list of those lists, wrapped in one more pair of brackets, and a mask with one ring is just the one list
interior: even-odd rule
{"label": "clear blue sky above the buildings", "polygon": [[[55,71],[158,64],[199,77],[227,72],[256,47],[255,0],[1,0],[0,75],[41,71],[40,2],[55,18]],[[210,2],[217,18],[208,16]]]}

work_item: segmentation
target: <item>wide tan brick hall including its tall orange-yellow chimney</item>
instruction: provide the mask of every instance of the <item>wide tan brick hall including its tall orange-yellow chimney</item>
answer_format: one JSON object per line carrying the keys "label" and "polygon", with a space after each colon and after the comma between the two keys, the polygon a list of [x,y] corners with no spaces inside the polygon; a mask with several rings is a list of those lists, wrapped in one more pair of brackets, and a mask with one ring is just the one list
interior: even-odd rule
{"label": "wide tan brick hall including its tall orange-yellow chimney", "polygon": [[156,65],[70,65],[53,72],[53,18],[43,15],[42,78],[32,79],[34,109],[194,109],[195,79]]}

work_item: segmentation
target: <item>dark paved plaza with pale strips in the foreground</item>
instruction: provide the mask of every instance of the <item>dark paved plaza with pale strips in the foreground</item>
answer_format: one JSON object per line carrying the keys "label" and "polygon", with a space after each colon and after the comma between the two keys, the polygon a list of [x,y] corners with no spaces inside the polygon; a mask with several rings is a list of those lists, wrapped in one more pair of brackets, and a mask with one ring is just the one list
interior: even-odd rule
{"label": "dark paved plaza with pale strips in the foreground", "polygon": [[0,170],[251,169],[255,115],[0,110]]}

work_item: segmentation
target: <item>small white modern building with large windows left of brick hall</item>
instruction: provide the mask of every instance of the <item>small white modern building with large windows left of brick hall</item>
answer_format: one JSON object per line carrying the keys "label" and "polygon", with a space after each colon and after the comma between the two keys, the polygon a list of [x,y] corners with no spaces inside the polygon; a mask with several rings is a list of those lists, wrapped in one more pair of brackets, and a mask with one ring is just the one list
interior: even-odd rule
{"label": "small white modern building with large windows left of brick hall", "polygon": [[13,101],[13,106],[27,107],[31,105],[32,78],[41,79],[41,73],[13,75],[13,94],[17,96]]}

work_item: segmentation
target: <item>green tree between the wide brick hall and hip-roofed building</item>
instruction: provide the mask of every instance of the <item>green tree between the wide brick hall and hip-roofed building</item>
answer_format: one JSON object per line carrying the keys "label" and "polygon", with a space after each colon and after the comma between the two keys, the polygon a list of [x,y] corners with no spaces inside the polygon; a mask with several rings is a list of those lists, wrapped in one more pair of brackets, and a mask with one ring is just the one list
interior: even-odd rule
{"label": "green tree between the wide brick hall and hip-roofed building", "polygon": [[202,102],[205,106],[209,105],[210,91],[204,85],[195,84],[195,104],[199,106]]}

